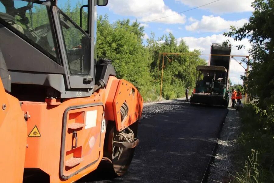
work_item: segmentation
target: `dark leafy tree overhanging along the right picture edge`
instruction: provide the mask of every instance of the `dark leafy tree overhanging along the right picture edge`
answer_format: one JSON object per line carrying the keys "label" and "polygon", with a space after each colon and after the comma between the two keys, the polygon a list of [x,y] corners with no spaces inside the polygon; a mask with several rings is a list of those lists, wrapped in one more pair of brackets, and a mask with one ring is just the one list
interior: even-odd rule
{"label": "dark leafy tree overhanging along the right picture edge", "polygon": [[[248,64],[251,70],[248,78],[243,79],[251,99],[255,99],[262,109],[267,109],[274,103],[274,1],[255,0],[252,7],[255,11],[249,22],[238,29],[231,26],[231,31],[224,35],[233,37],[235,41],[249,38],[252,59]],[[238,49],[241,48],[244,45],[238,46]]]}

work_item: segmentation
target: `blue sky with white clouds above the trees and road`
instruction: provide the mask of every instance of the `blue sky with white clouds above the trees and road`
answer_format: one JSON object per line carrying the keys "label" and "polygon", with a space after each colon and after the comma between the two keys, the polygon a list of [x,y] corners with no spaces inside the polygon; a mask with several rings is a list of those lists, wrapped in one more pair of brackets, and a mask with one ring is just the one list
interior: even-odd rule
{"label": "blue sky with white clouds above the trees and road", "polygon": [[[58,3],[61,1],[58,0]],[[72,5],[77,1],[83,0],[71,0]],[[202,54],[210,54],[212,43],[222,43],[228,39],[223,36],[223,32],[228,31],[230,25],[241,27],[248,22],[253,11],[251,2],[252,0],[109,0],[107,6],[97,7],[97,13],[108,14],[111,23],[118,19],[138,20],[145,27],[144,43],[151,32],[155,33],[156,38],[171,32],[178,42],[184,40],[190,50],[198,49]],[[162,18],[165,16],[167,17]],[[231,38],[229,40],[232,44],[231,55],[249,55],[251,45],[248,39],[238,42]],[[237,50],[236,46],[241,44],[245,49]],[[209,57],[202,58],[208,60]],[[240,61],[242,58],[235,59]],[[242,66],[246,68],[246,65],[241,66],[234,59],[230,64],[232,84],[242,84],[240,76],[245,72]]]}

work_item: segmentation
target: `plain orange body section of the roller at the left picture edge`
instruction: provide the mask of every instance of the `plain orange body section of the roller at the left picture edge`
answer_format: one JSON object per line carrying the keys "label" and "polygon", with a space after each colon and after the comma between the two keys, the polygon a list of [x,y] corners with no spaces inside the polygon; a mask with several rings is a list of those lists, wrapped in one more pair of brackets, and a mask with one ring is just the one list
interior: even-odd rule
{"label": "plain orange body section of the roller at the left picture edge", "polygon": [[5,92],[0,79],[0,177],[2,182],[23,181],[27,125],[18,99]]}

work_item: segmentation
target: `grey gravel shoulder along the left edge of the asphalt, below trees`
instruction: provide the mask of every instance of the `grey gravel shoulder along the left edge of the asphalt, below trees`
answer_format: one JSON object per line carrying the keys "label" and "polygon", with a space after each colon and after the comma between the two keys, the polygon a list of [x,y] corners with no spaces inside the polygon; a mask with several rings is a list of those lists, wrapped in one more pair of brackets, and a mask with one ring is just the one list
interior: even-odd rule
{"label": "grey gravel shoulder along the left edge of the asphalt, below trees", "polygon": [[144,103],[142,119],[152,117],[156,114],[163,114],[174,109],[182,108],[182,101],[184,100],[185,98],[178,98],[173,100]]}

